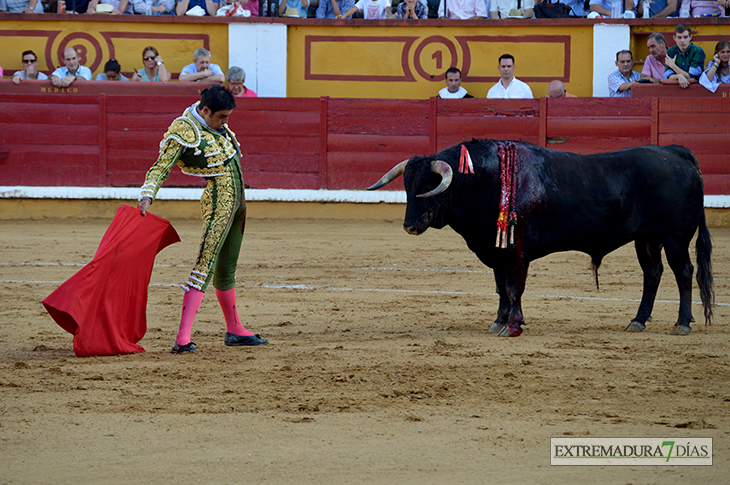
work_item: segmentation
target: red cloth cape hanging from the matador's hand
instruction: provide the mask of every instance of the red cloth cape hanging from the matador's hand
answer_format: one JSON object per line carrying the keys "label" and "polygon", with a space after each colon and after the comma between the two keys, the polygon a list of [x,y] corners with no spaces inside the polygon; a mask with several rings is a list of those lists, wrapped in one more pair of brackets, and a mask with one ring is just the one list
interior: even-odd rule
{"label": "red cloth cape hanging from the matador's hand", "polygon": [[165,219],[121,206],[94,258],[43,305],[74,336],[78,357],[144,352],[147,289],[155,256],[180,241]]}

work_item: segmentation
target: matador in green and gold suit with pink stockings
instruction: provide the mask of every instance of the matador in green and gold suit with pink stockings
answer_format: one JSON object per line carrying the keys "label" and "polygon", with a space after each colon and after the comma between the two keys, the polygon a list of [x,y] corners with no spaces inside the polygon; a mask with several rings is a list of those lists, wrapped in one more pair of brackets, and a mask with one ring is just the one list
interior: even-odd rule
{"label": "matador in green and gold suit with pink stockings", "polygon": [[246,330],[236,308],[236,266],[246,221],[246,200],[241,173],[241,149],[228,128],[236,107],[231,92],[215,84],[205,89],[200,101],[172,122],[160,142],[160,155],[147,172],[139,208],[144,216],[157,191],[177,165],[183,173],[203,177],[208,184],[200,199],[203,235],[195,266],[182,285],[180,330],[172,352],[197,352],[191,341],[193,320],[203,295],[213,282],[226,320],[226,345],[261,345],[266,339]]}

